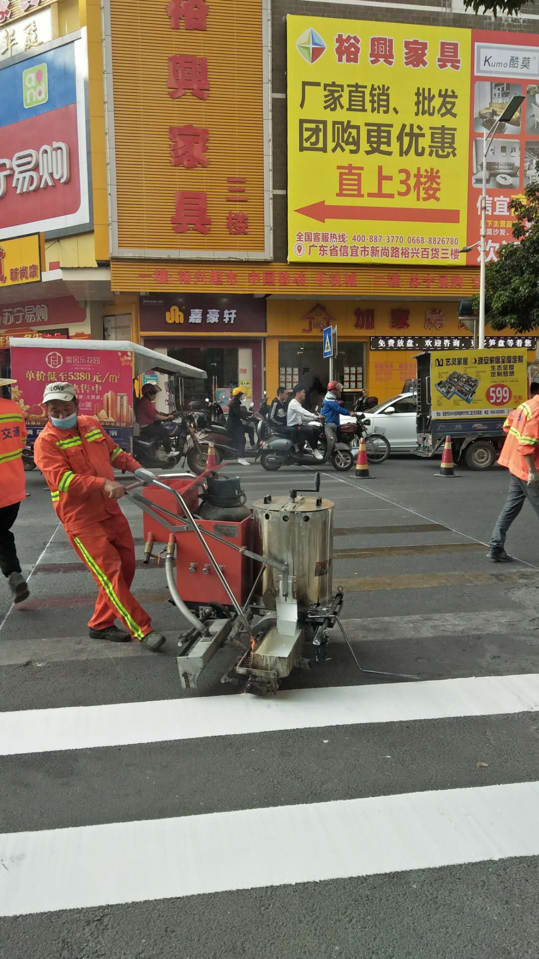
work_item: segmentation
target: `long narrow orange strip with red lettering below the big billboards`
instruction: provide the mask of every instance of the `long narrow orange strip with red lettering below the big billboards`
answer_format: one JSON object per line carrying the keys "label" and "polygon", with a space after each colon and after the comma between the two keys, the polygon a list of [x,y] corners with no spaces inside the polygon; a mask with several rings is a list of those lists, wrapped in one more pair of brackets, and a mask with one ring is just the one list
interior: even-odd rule
{"label": "long narrow orange strip with red lettering below the big billboards", "polygon": [[113,260],[112,289],[117,292],[235,292],[290,296],[406,296],[460,299],[480,289],[480,271],[469,267],[309,267],[296,264],[197,264]]}

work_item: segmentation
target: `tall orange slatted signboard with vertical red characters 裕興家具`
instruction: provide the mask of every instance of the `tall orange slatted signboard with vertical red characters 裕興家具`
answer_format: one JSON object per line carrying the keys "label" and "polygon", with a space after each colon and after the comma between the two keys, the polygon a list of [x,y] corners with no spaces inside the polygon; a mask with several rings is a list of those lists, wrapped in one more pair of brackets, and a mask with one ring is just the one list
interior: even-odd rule
{"label": "tall orange slatted signboard with vertical red characters \u88d5\u8208\u5bb6\u5177", "polygon": [[112,255],[270,259],[267,3],[105,8]]}

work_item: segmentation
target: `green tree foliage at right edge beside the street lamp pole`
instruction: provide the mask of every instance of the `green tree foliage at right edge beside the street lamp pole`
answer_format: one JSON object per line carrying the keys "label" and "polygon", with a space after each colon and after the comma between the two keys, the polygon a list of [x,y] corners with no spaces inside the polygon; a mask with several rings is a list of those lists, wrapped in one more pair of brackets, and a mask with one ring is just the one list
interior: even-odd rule
{"label": "green tree foliage at right edge beside the street lamp pole", "polygon": [[[525,199],[512,200],[511,210],[519,242],[500,246],[498,262],[486,265],[485,315],[493,330],[530,333],[539,327],[539,180],[527,186]],[[473,306],[479,313],[478,295]]]}

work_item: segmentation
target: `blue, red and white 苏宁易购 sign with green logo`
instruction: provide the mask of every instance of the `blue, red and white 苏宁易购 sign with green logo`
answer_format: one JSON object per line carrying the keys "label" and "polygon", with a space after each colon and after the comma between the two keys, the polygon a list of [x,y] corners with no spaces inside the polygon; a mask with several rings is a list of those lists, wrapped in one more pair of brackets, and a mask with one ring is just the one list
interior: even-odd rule
{"label": "blue, red and white \u82cf\u5b81\u6613\u8d2d sign with green logo", "polygon": [[0,241],[91,222],[85,28],[0,59]]}

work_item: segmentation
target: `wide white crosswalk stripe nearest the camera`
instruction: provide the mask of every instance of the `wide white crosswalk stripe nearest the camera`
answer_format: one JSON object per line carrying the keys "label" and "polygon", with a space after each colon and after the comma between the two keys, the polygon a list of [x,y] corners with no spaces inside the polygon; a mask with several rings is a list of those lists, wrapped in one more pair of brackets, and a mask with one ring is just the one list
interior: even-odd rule
{"label": "wide white crosswalk stripe nearest the camera", "polygon": [[515,783],[6,833],[0,915],[537,855],[538,805]]}

